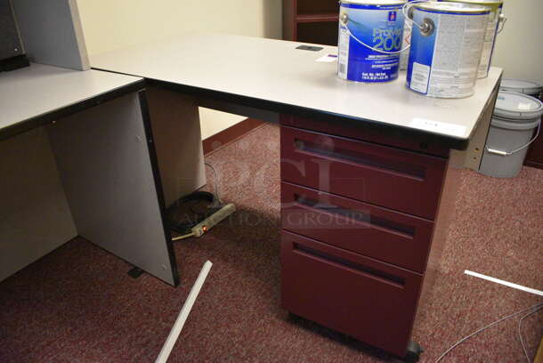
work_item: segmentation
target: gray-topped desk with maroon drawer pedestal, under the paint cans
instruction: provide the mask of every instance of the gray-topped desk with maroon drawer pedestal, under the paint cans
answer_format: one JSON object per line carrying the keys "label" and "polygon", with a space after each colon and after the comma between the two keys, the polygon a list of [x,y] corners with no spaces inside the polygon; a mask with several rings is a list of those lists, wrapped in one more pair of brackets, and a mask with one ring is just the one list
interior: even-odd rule
{"label": "gray-topped desk with maroon drawer pedestal, under the paint cans", "polygon": [[283,306],[405,356],[458,171],[480,163],[501,69],[472,97],[432,99],[407,90],[404,74],[345,82],[335,62],[317,61],[335,47],[297,45],[189,34],[91,63],[145,78],[161,207],[205,183],[198,106],[280,122]]}

